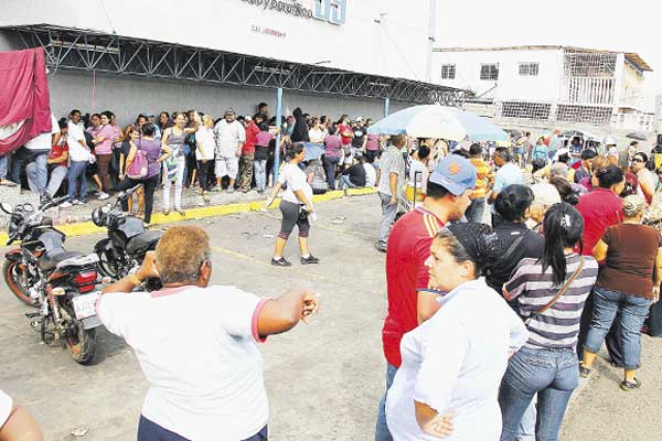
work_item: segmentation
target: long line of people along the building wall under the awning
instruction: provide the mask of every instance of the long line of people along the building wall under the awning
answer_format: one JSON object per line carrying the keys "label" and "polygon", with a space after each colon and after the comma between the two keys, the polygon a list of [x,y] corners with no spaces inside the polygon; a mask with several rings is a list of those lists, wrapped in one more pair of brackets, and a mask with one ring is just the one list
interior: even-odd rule
{"label": "long line of people along the building wall under the awning", "polygon": [[[195,110],[163,111],[158,119],[145,112],[122,129],[111,111],[83,117],[74,109],[68,119],[52,117],[51,133],[31,139],[11,159],[0,157],[0,186],[24,182],[41,196],[67,194],[68,202],[61,206],[66,208],[87,202],[88,183],[98,200],[142,183],[137,214],[149,223],[158,187],[163,192],[164,214],[173,208],[184,213],[182,192],[189,187],[206,203],[210,192],[264,193],[275,184],[276,151],[282,157],[295,142],[317,144],[321,150],[302,165],[316,192],[371,186],[383,139],[367,133],[370,125],[371,119],[350,121],[346,115],[332,122],[300,108],[276,121],[261,103],[253,116],[227,109],[217,119]],[[281,143],[277,147],[278,133]]]}

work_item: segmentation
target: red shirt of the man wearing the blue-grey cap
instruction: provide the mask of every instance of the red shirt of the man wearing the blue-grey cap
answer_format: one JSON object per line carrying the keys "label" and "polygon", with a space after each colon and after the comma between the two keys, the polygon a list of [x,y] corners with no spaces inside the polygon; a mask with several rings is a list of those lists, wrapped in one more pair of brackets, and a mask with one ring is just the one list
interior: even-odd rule
{"label": "red shirt of the man wearing the blue-grey cap", "polygon": [[435,235],[444,226],[433,213],[423,207],[404,215],[391,230],[386,250],[386,286],[388,314],[382,329],[384,355],[388,364],[402,364],[401,340],[416,326],[417,289],[428,288],[428,269]]}

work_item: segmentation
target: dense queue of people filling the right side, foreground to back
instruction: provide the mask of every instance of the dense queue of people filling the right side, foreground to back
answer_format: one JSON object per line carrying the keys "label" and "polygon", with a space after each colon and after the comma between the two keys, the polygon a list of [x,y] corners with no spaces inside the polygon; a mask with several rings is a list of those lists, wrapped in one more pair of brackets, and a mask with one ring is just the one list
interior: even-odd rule
{"label": "dense queue of people filling the right side, foreground to back", "polygon": [[[641,387],[642,329],[661,331],[662,239],[652,225],[662,193],[647,154],[619,168],[586,150],[577,173],[562,152],[531,183],[509,149],[493,152],[495,172],[483,151],[472,144],[439,161],[423,204],[392,228],[383,209],[387,366],[377,441],[557,440],[605,341],[623,369],[619,387]],[[393,204],[397,158],[385,170],[393,185],[380,187]],[[488,218],[493,228],[481,224]]]}

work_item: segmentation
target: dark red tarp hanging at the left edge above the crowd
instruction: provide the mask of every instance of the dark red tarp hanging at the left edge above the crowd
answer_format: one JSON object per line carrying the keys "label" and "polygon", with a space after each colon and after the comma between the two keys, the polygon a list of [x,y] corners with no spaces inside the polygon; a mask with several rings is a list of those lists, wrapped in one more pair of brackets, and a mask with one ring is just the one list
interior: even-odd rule
{"label": "dark red tarp hanging at the left edge above the crowd", "polygon": [[0,157],[51,131],[51,103],[42,47],[0,52],[0,127],[25,121],[0,139]]}

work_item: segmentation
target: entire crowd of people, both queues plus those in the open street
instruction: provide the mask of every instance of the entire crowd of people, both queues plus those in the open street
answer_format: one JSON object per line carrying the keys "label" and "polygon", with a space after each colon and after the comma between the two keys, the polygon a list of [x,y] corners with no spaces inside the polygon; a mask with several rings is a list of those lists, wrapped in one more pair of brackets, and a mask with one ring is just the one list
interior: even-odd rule
{"label": "entire crowd of people, both queues plus those in the open street", "polygon": [[[291,266],[282,251],[295,226],[301,263],[320,261],[308,243],[314,193],[376,186],[388,300],[377,441],[557,440],[570,396],[591,375],[604,342],[623,370],[619,387],[642,386],[641,334],[660,332],[651,309],[662,282],[662,185],[652,171],[662,148],[650,157],[629,149],[622,164],[612,144],[572,141],[549,152],[542,139],[509,149],[387,138],[367,132],[371,120],[332,123],[301,109],[276,123],[266,105],[254,116],[228,109],[217,120],[193,110],[162,112],[158,121],[141,115],[125,130],[111,112],[92,115],[87,128],[81,118],[73,110],[68,121],[54,121],[58,130],[24,147],[29,159],[13,158],[32,191],[53,196],[66,180],[74,205],[86,201],[86,175],[99,200],[142,183],[149,223],[159,186],[166,214],[172,189],[172,207],[183,213],[186,186],[203,197],[271,186],[266,206],[280,195],[282,214],[274,266]],[[277,149],[284,164],[270,182]],[[209,287],[211,273],[207,235],[173,227],[140,270],[108,286],[97,303],[150,384],[139,440],[268,438],[255,343],[308,320],[318,300],[306,290],[259,299]],[[156,276],[163,290],[122,294]],[[194,306],[202,297],[213,297],[215,308]],[[173,331],[182,320],[202,337],[191,343]]]}

